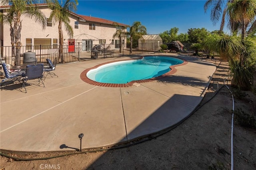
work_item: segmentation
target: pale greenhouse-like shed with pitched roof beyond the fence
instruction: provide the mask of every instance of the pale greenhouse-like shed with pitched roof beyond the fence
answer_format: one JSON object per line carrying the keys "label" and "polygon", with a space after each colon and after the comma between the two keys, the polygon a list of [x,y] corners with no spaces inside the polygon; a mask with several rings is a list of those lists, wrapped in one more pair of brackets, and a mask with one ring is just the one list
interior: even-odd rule
{"label": "pale greenhouse-like shed with pitched roof beyond the fence", "polygon": [[[143,41],[144,39],[144,41]],[[138,49],[143,51],[158,51],[160,45],[163,44],[162,38],[159,34],[143,35],[143,39],[138,40]]]}

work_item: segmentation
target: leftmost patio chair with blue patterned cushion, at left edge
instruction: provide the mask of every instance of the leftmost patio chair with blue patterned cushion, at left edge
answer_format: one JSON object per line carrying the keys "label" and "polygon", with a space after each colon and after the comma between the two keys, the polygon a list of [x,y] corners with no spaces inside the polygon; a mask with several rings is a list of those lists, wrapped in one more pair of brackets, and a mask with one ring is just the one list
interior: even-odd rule
{"label": "leftmost patio chair with blue patterned cushion, at left edge", "polygon": [[26,75],[25,71],[10,72],[6,63],[2,63],[2,68],[6,78],[1,80],[1,87],[5,85],[1,90],[3,90],[7,85],[14,83],[15,81],[20,82],[20,78]]}

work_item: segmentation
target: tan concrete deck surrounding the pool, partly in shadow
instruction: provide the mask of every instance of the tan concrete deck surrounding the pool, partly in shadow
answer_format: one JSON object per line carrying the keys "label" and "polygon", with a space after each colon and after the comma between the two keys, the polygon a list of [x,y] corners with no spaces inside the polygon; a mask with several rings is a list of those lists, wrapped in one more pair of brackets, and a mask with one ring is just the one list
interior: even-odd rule
{"label": "tan concrete deck surrounding the pool, partly in shadow", "polygon": [[[157,55],[156,53],[153,55]],[[161,53],[159,55],[162,55]],[[216,66],[197,57],[173,75],[140,86],[109,88],[80,79],[86,68],[130,57],[63,64],[45,87],[20,84],[0,92],[0,148],[54,151],[102,147],[156,133],[190,115],[204,97]],[[136,57],[135,57],[136,58]],[[63,148],[64,147],[64,148]]]}

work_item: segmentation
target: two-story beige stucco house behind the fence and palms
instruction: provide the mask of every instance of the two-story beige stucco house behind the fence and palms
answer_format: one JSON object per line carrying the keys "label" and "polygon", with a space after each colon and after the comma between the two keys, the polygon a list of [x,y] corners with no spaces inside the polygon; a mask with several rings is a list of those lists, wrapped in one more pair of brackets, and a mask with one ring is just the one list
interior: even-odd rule
{"label": "two-story beige stucco house behind the fence and palms", "polygon": [[[46,4],[36,5],[46,18],[50,16],[51,10]],[[0,6],[0,12],[6,14],[6,6]],[[48,45],[44,48],[57,48],[58,42],[58,24],[53,25],[48,21],[46,29],[31,20],[22,17],[22,29],[20,42],[26,46],[26,50],[30,50],[37,45]],[[96,18],[92,16],[84,16],[70,12],[70,25],[73,27],[74,36],[69,37],[63,29],[64,45],[68,45],[68,52],[73,52],[74,45],[82,45],[81,51],[90,51],[96,44],[112,44],[114,48],[119,48],[119,39],[113,38],[116,32],[114,21]],[[128,27],[126,24],[118,23],[120,26]],[[122,43],[126,43],[126,38],[122,39]],[[10,25],[0,24],[0,45],[11,46]]]}

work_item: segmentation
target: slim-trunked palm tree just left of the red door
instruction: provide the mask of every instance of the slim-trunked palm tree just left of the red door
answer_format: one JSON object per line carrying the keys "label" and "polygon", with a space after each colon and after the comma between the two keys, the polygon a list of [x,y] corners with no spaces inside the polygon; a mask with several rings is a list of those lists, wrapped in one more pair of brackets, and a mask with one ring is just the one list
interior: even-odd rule
{"label": "slim-trunked palm tree just left of the red door", "polygon": [[[78,5],[78,0],[66,0],[59,2],[58,0],[46,0],[48,6],[52,10],[49,20],[55,25],[58,23],[58,31],[59,31],[59,59],[61,62],[64,63],[64,56],[63,56],[63,31],[62,26],[64,25],[66,32],[70,37],[73,37],[74,32],[73,28],[70,25],[70,11],[76,11],[76,6]],[[63,2],[63,3],[62,3]]]}

